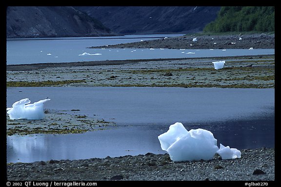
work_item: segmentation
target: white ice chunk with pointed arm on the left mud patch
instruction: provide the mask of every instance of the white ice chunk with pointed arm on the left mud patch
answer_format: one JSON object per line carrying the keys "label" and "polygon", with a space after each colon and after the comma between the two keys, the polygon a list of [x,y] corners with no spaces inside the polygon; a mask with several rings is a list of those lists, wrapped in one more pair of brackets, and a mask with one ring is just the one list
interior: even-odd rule
{"label": "white ice chunk with pointed arm on the left mud patch", "polygon": [[29,104],[28,98],[21,99],[12,105],[12,108],[7,108],[7,113],[10,119],[30,119],[40,120],[44,117],[43,103],[50,99],[43,99],[33,104]]}

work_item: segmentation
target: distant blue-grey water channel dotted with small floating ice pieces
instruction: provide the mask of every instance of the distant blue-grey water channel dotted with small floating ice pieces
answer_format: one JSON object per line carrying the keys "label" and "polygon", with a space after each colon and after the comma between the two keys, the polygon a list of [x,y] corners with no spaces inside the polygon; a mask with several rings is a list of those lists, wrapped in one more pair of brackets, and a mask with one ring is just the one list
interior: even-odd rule
{"label": "distant blue-grey water channel dotted with small floating ice pieces", "polygon": [[[275,54],[274,49],[88,49],[119,43],[145,41],[181,35],[129,35],[123,37],[65,37],[8,39],[7,64],[31,64],[47,62],[80,62],[95,60],[125,60],[153,58],[185,58],[215,56],[245,56]],[[87,53],[90,55],[82,55]]]}

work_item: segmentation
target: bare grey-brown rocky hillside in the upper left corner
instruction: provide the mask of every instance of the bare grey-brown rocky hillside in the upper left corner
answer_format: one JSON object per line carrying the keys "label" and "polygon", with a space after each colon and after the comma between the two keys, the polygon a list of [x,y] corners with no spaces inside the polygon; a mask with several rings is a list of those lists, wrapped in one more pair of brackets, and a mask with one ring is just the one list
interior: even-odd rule
{"label": "bare grey-brown rocky hillside in the upper left corner", "polygon": [[110,29],[74,7],[12,6],[6,10],[6,37],[109,36]]}

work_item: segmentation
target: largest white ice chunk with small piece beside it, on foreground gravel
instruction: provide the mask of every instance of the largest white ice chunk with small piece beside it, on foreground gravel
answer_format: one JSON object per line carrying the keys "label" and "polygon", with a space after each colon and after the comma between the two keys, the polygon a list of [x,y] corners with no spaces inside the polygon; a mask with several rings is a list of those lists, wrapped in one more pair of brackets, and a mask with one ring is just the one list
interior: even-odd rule
{"label": "largest white ice chunk with small piece beside it, on foreground gravel", "polygon": [[217,139],[212,132],[204,129],[187,131],[177,122],[169,127],[167,132],[158,136],[161,149],[169,153],[173,161],[197,161],[211,160],[215,153],[219,153],[222,159],[240,158],[241,152],[237,149],[221,149],[217,146]]}

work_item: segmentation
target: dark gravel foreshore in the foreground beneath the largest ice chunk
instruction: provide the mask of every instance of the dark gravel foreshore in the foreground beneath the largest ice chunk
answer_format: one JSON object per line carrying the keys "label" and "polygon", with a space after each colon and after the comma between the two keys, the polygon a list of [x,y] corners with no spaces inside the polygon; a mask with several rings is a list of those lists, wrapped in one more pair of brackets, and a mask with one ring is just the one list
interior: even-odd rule
{"label": "dark gravel foreshore in the foreground beneath the largest ice chunk", "polygon": [[168,154],[7,164],[8,180],[274,181],[275,149],[241,150],[241,158],[173,162]]}

